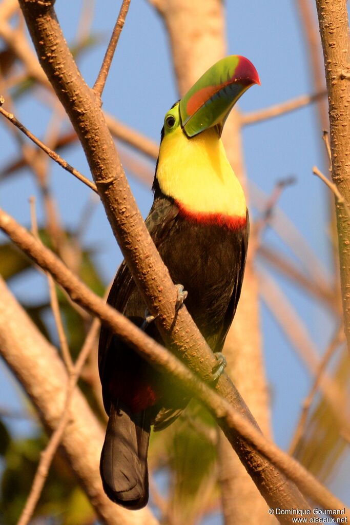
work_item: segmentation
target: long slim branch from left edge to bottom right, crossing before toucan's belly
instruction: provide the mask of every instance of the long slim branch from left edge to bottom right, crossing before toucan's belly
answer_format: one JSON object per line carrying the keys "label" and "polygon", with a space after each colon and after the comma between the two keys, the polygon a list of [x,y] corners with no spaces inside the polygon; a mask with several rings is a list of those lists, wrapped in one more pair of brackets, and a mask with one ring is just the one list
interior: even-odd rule
{"label": "long slim branch from left edge to bottom right, crossing before toucan's belly", "polygon": [[[139,330],[121,313],[114,310],[108,304],[105,304],[100,297],[96,296],[83,285],[48,248],[41,245],[25,228],[17,224],[15,220],[5,212],[0,212],[0,228],[12,238],[18,247],[25,250],[25,253],[35,260],[40,267],[50,271],[57,282],[70,293],[70,296],[74,298],[78,304],[99,317],[108,328],[117,333],[119,337],[126,341],[128,345],[140,353],[140,355],[158,370],[169,374],[169,377],[176,379],[183,388],[186,388],[198,397],[216,417],[226,437],[233,446],[236,441],[240,439],[240,436],[244,436],[246,450],[245,454],[240,454],[241,459],[245,457],[246,454],[251,455],[250,460],[253,459],[254,451],[248,445],[251,443],[254,445],[254,449],[259,450],[261,454],[269,458],[271,463],[281,468],[290,479],[293,479],[297,483],[305,495],[312,498],[313,501],[323,508],[344,508],[343,502],[333,496],[322,484],[313,478],[307,470],[299,465],[296,460],[290,458],[286,453],[278,449],[276,445],[264,438],[260,430],[247,421],[246,414],[242,413],[242,406],[240,406],[239,403],[237,405],[238,410],[233,408],[231,404],[207,386],[198,376],[194,375],[175,356],[148,337],[145,332]],[[260,469],[264,471],[268,467],[269,463],[264,462],[263,457],[261,457]],[[278,482],[278,479],[275,478],[275,481]],[[261,490],[261,492],[263,491],[264,489]],[[270,504],[271,500],[276,498],[275,492],[270,493],[268,496]],[[293,506],[290,507],[290,505],[293,505],[293,501],[288,498],[288,495],[286,496],[287,501],[283,501],[282,507],[279,508],[295,508]],[[308,506],[304,505],[299,508],[307,509]],[[346,512],[348,512],[350,517],[350,509],[346,509]],[[291,522],[290,516],[281,517],[281,523]]]}

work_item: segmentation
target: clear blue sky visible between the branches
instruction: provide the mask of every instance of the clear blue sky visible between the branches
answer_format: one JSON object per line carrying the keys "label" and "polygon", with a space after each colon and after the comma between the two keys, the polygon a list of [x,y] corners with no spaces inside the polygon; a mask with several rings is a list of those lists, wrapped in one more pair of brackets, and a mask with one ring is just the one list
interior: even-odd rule
{"label": "clear blue sky visible between the branches", "polygon": [[[56,4],[59,20],[69,42],[73,41],[76,33],[80,8],[81,1]],[[96,2],[93,30],[103,35],[105,41],[79,61],[82,75],[90,85],[99,70],[115,16],[114,1]],[[308,57],[293,2],[226,2],[226,24],[228,54],[248,57],[256,66],[261,79],[261,87],[249,90],[239,101],[240,109],[253,111],[312,92]],[[162,22],[145,0],[133,0],[104,90],[103,107],[119,120],[158,141],[164,114],[177,99],[168,40]],[[34,101],[32,97],[23,99],[17,106],[17,116],[39,137],[45,134],[49,115],[45,100],[41,97],[37,96]],[[321,130],[316,128],[315,116],[315,108],[307,107],[245,128],[245,165],[250,180],[268,194],[280,178],[290,174],[297,177],[297,183],[282,193],[279,206],[300,230],[325,268],[329,268],[326,190],[311,171],[315,164],[324,170],[323,142]],[[3,145],[0,159],[4,162],[13,158],[17,149],[12,135],[1,121],[0,140]],[[80,148],[67,150],[64,156],[82,173],[89,175]],[[147,163],[153,170],[155,163]],[[89,190],[53,163],[51,172],[60,214],[68,226],[76,225],[89,199]],[[152,202],[151,192],[132,176],[129,180],[145,216]],[[12,213],[19,222],[28,225],[28,196],[32,194],[37,194],[37,190],[30,175],[6,181],[0,187],[0,206]],[[38,215],[40,219],[42,215]],[[266,232],[264,239],[289,253],[271,230]],[[97,249],[97,261],[108,282],[121,261],[121,255],[102,205],[96,208],[91,217],[85,240]],[[327,312],[289,283],[281,279],[278,282],[307,324],[316,347],[320,353],[323,352],[333,330]],[[46,294],[45,279],[38,275],[30,282],[21,279],[13,290],[18,297],[35,303]],[[262,307],[261,312],[266,370],[272,392],[274,435],[277,444],[286,447],[302,400],[308,393],[310,378],[271,314],[265,307]],[[0,381],[0,404],[18,406],[21,395],[16,387],[8,386],[9,383],[14,385],[14,382],[8,379],[8,374],[3,370],[1,376],[4,375],[7,379]],[[26,432],[27,425],[16,424],[14,428],[17,432]],[[344,471],[346,465],[348,463],[345,461],[342,466]],[[341,481],[344,479],[342,472],[338,479],[337,493],[350,503],[348,491]]]}

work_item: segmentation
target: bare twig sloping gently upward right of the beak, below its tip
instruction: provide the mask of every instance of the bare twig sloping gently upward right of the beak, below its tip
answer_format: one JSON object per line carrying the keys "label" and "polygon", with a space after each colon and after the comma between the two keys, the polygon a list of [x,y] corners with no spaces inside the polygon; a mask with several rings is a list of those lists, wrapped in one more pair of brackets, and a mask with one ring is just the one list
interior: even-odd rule
{"label": "bare twig sloping gently upward right of the beak, below its tip", "polygon": [[270,106],[266,109],[251,111],[241,116],[240,123],[241,125],[246,126],[249,124],[255,124],[256,122],[261,122],[263,120],[279,117],[280,115],[289,113],[290,111],[308,106],[308,104],[316,102],[326,95],[327,91],[323,90],[319,91],[318,93],[314,93],[313,95],[302,95],[301,97],[287,100],[286,102],[281,102],[280,104],[274,104],[274,106]]}

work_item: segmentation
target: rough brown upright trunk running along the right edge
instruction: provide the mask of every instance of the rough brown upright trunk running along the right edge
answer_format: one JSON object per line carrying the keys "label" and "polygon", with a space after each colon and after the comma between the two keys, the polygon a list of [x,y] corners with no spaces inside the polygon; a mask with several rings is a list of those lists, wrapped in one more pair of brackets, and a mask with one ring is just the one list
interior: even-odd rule
{"label": "rough brown upright trunk running along the right edge", "polygon": [[[345,0],[316,0],[327,82],[332,178],[350,204],[350,64],[349,23]],[[344,328],[350,349],[350,220],[335,201]]]}

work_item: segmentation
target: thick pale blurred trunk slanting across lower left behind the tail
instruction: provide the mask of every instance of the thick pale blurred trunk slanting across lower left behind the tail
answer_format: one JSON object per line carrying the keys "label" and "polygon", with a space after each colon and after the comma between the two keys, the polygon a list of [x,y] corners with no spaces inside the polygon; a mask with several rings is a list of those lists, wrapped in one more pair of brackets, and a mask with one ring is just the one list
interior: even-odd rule
{"label": "thick pale blurred trunk slanting across lower left behind the tail", "polygon": [[[54,348],[36,328],[0,277],[0,352],[32,403],[42,423],[56,429],[65,401],[68,375]],[[85,398],[76,390],[71,419],[64,430],[61,450],[89,497],[96,513],[108,525],[156,525],[148,509],[130,512],[105,495],[99,470],[104,432]]]}

